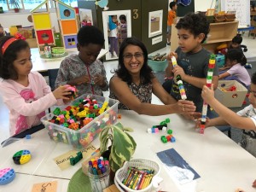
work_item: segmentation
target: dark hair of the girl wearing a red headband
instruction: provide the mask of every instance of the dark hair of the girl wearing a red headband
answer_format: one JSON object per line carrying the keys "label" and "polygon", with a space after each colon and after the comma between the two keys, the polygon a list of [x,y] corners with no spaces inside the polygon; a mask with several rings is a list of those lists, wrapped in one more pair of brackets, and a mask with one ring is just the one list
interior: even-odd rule
{"label": "dark hair of the girl wearing a red headband", "polygon": [[9,38],[13,37],[4,36],[3,38],[0,38],[0,77],[3,79],[18,79],[14,61],[17,59],[17,53],[22,49],[29,48],[29,45],[25,40],[18,39],[9,44],[9,47],[3,53],[3,44],[9,40]]}

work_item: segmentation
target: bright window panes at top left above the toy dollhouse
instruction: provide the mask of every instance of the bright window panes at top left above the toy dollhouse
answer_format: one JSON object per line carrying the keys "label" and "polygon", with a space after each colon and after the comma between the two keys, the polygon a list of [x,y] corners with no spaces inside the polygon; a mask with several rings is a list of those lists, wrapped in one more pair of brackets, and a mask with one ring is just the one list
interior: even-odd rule
{"label": "bright window panes at top left above the toy dollhouse", "polygon": [[[24,8],[31,10],[35,9],[38,7],[40,3],[43,3],[44,0],[23,0]],[[78,7],[78,2],[77,0],[62,0],[61,2],[66,3],[67,5],[71,7]],[[53,8],[53,1],[49,0],[49,7]],[[8,6],[7,6],[7,0],[0,0],[0,7],[3,7],[3,11],[8,11]]]}

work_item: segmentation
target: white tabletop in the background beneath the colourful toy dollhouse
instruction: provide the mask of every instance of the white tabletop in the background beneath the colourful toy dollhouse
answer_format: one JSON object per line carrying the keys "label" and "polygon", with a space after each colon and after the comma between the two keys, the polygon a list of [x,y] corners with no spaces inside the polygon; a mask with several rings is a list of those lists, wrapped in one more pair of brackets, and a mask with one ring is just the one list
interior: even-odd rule
{"label": "white tabletop in the background beneath the colourful toy dollhouse", "polygon": [[[78,49],[67,49],[68,55],[71,54],[77,54]],[[97,56],[97,59],[102,58],[102,56],[106,55],[108,53],[107,49],[102,49],[100,54]],[[60,68],[61,61],[65,57],[60,57],[60,58],[50,58],[50,59],[43,59],[40,57],[40,53],[38,51],[38,48],[32,48],[31,49],[31,54],[32,54],[32,71],[37,71],[37,72],[44,72],[49,69],[56,69]]]}

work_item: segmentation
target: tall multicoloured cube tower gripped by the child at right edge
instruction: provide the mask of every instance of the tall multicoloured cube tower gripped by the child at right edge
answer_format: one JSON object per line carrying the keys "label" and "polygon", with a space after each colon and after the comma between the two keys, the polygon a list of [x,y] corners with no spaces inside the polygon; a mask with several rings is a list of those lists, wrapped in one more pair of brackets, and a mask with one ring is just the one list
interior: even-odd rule
{"label": "tall multicoloured cube tower gripped by the child at right edge", "polygon": [[[212,86],[212,76],[213,76],[213,70],[215,67],[215,59],[216,56],[212,54],[210,56],[209,64],[208,64],[208,71],[207,71],[207,87],[211,88]],[[201,111],[201,124],[200,124],[200,133],[204,134],[205,128],[206,128],[206,122],[207,122],[207,108],[208,104],[207,102],[203,102],[203,107]]]}

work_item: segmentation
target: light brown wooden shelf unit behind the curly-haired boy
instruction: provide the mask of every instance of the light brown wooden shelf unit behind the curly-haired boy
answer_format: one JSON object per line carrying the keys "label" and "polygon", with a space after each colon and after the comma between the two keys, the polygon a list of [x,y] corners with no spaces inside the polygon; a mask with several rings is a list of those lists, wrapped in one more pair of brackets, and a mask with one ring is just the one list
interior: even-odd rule
{"label": "light brown wooden shelf unit behind the curly-haired boy", "polygon": [[[238,27],[238,21],[211,23],[210,32],[206,43],[203,47],[211,52],[214,52],[219,44],[230,44],[232,38],[236,36]],[[175,51],[178,46],[177,41],[177,28],[172,26],[172,39],[171,39],[171,50]]]}

